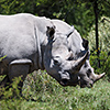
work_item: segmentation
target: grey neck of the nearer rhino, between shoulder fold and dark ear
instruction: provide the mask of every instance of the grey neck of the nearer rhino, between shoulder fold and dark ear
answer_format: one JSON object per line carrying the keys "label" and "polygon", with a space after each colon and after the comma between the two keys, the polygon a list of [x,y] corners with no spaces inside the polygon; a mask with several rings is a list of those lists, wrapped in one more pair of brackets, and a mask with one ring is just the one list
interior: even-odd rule
{"label": "grey neck of the nearer rhino, between shoulder fold and dark ear", "polygon": [[44,52],[47,45],[47,26],[53,28],[53,23],[50,19],[35,16],[35,36],[36,36],[36,52],[37,52],[37,65],[40,69],[45,69],[44,67]]}

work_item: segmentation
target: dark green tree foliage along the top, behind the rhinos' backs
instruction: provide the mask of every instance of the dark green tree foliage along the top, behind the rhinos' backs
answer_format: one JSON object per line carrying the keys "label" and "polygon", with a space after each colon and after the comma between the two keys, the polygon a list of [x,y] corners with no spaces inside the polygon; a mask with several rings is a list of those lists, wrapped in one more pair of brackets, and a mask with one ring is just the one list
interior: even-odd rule
{"label": "dark green tree foliage along the top, behind the rhinos' backs", "polygon": [[[0,0],[1,14],[21,12],[61,19],[75,25],[82,36],[87,36],[95,24],[94,6],[96,0]],[[98,18],[110,16],[110,0],[97,0]]]}

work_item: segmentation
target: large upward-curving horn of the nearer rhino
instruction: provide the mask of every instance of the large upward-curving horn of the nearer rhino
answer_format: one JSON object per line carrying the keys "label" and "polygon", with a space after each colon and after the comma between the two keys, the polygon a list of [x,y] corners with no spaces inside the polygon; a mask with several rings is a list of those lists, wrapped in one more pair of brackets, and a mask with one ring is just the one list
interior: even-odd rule
{"label": "large upward-curving horn of the nearer rhino", "polygon": [[72,64],[73,68],[72,68],[72,70],[74,73],[78,73],[80,70],[80,68],[85,64],[88,55],[89,55],[89,52],[87,52],[82,57],[78,58],[77,61],[73,61],[73,64]]}

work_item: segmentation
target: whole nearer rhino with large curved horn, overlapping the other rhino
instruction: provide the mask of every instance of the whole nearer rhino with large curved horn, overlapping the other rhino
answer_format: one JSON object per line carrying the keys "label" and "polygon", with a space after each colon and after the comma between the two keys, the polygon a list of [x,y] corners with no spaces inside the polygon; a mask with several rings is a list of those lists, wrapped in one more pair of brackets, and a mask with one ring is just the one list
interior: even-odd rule
{"label": "whole nearer rhino with large curved horn, overlapping the other rhino", "polygon": [[6,75],[0,86],[6,87],[15,77],[23,80],[28,74],[46,69],[62,86],[74,85],[72,74],[80,70],[88,53],[82,57],[70,59],[68,37],[74,28],[58,31],[52,20],[32,14],[0,15],[0,75]]}

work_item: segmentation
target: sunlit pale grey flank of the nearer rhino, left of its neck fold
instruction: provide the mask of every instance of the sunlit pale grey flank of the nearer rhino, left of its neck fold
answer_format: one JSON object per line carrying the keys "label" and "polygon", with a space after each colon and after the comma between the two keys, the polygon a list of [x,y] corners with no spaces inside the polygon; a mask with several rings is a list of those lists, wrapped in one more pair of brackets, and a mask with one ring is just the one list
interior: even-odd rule
{"label": "sunlit pale grey flank of the nearer rhino, left of its neck fold", "polygon": [[0,15],[0,55],[25,57],[35,52],[32,15]]}

